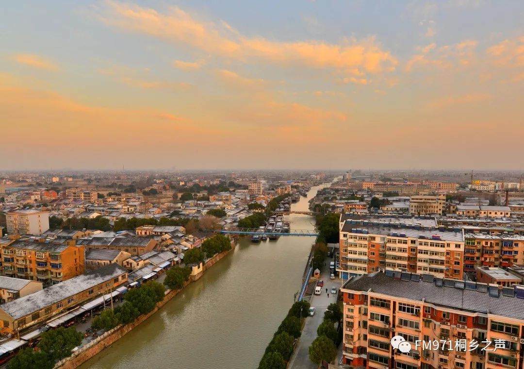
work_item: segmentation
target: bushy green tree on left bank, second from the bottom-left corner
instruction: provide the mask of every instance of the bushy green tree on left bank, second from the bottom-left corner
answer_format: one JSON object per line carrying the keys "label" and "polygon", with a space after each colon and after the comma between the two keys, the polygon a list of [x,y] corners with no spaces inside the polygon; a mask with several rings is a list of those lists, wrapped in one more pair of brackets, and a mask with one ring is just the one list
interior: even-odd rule
{"label": "bushy green tree on left bank, second from the bottom-left corner", "polygon": [[71,355],[72,350],[82,343],[83,335],[74,327],[51,329],[42,333],[38,344],[51,360],[62,360]]}

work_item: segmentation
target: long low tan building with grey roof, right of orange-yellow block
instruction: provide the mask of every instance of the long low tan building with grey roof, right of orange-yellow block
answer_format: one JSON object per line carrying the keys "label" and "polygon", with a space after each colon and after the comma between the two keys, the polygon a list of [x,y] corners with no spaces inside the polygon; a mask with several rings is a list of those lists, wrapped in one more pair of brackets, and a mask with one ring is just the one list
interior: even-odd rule
{"label": "long low tan building with grey roof, right of orange-yellow block", "polygon": [[141,255],[154,250],[158,242],[152,237],[93,237],[77,240],[77,245],[85,246],[86,250],[105,248]]}

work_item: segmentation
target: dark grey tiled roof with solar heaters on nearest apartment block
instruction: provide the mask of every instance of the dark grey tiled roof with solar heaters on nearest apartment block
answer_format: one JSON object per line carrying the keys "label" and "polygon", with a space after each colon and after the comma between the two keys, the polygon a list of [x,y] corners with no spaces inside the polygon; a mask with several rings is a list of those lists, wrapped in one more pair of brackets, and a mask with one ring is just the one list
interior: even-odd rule
{"label": "dark grey tiled roof with solar heaters on nearest apartment block", "polygon": [[524,288],[519,286],[499,291],[498,286],[484,283],[388,270],[386,273],[375,272],[350,278],[342,289],[370,291],[452,309],[524,320]]}

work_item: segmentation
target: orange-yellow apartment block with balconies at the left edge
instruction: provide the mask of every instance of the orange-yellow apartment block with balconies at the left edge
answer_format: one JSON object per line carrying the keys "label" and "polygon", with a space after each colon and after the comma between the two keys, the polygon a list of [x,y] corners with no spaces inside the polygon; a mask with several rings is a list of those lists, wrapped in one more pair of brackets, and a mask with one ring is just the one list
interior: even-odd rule
{"label": "orange-yellow apartment block with balconies at the left edge", "polygon": [[16,240],[0,247],[2,275],[57,284],[85,271],[84,247],[64,243]]}

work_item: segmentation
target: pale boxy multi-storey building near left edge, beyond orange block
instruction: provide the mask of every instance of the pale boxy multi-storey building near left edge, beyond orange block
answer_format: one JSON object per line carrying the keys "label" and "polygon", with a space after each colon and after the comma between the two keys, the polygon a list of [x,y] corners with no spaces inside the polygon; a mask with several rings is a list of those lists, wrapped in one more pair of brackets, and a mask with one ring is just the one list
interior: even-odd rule
{"label": "pale boxy multi-storey building near left edge, beyond orange block", "polygon": [[17,209],[7,212],[7,233],[40,235],[49,229],[49,211]]}

